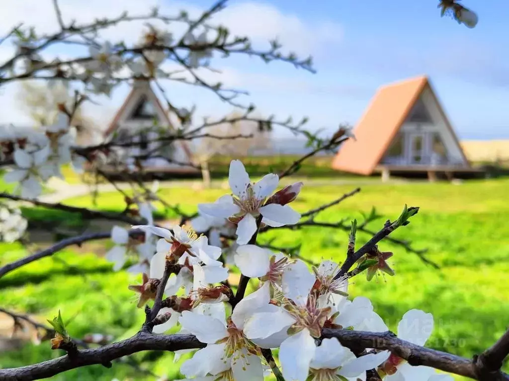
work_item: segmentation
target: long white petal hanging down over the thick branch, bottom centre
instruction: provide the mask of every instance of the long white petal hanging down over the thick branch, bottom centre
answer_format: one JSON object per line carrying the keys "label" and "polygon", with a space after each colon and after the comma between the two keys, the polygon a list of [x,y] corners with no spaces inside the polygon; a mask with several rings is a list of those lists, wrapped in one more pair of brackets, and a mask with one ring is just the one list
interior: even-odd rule
{"label": "long white petal hanging down over the thick branch, bottom centre", "polygon": [[307,329],[283,341],[279,347],[283,377],[292,381],[306,381],[309,363],[315,356],[315,350],[315,339]]}

